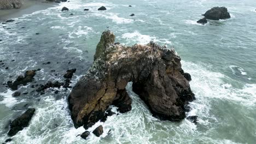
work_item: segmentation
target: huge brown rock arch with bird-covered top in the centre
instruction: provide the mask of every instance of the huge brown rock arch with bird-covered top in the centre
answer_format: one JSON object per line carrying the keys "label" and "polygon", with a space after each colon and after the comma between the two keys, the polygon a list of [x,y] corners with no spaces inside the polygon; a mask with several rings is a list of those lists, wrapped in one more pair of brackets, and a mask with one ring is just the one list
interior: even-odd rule
{"label": "huge brown rock arch with bird-covered top in the centre", "polygon": [[130,111],[132,101],[125,89],[128,82],[133,82],[133,91],[153,116],[169,121],[184,119],[185,105],[195,97],[177,53],[153,42],[114,45],[114,39],[112,32],[103,32],[94,63],[69,95],[74,126],[91,127],[110,105],[119,107],[122,113]]}

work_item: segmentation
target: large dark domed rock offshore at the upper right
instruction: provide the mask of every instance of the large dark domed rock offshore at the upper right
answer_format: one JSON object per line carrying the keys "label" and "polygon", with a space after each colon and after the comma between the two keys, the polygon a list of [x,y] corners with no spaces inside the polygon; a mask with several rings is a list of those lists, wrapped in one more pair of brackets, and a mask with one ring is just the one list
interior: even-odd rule
{"label": "large dark domed rock offshore at the upper right", "polygon": [[207,10],[206,13],[203,14],[203,16],[205,16],[205,18],[209,20],[223,20],[230,18],[228,9],[225,7],[214,7],[210,10]]}

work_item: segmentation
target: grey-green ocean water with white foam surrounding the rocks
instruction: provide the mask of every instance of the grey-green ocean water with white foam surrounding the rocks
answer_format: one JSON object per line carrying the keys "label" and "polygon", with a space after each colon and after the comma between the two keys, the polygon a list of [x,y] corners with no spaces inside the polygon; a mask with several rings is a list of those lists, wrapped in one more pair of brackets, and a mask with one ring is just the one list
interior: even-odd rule
{"label": "grey-green ocean water with white foam surrounding the rocks", "polygon": [[[97,10],[102,5],[106,11]],[[208,21],[205,26],[196,23],[215,6],[227,7],[231,19]],[[61,12],[62,7],[69,11]],[[254,0],[71,0],[1,24],[0,142],[8,139],[9,120],[34,107],[30,125],[10,143],[255,143],[255,9]],[[135,16],[131,17],[132,13]],[[187,119],[172,123],[152,117],[129,83],[132,110],[96,123],[89,131],[103,125],[103,135],[91,134],[84,140],[77,135],[85,129],[75,129],[69,116],[71,89],[62,88],[59,94],[55,89],[44,95],[34,92],[32,85],[63,81],[67,69],[77,68],[71,83],[74,86],[92,64],[105,29],[113,31],[116,41],[124,45],[154,40],[174,46],[184,71],[192,76],[190,85],[196,100],[190,103],[192,110],[187,115],[198,116],[197,125]],[[51,63],[43,65],[45,62]],[[2,85],[38,68],[42,70],[35,82],[18,89],[28,92],[26,95],[12,97],[14,91]],[[117,111],[116,107],[112,110]]]}

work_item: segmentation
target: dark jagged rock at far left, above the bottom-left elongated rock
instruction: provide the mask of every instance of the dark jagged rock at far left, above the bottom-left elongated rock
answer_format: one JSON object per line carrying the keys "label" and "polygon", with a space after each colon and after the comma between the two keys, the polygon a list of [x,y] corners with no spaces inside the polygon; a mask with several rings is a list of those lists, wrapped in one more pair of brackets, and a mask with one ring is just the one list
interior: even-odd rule
{"label": "dark jagged rock at far left, above the bottom-left elongated rock", "polygon": [[7,85],[9,88],[11,88],[12,90],[17,90],[19,85],[27,85],[28,82],[32,82],[34,80],[34,75],[36,75],[36,71],[37,70],[28,70],[26,71],[25,75],[22,76],[18,76],[18,78],[12,82],[12,81],[8,81]]}

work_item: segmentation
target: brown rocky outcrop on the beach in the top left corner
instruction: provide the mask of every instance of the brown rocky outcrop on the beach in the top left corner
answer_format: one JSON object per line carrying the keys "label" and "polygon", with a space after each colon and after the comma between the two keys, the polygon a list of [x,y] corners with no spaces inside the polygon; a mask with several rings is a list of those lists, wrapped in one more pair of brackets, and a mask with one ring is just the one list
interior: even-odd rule
{"label": "brown rocky outcrop on the beach in the top left corner", "polygon": [[21,0],[1,0],[0,9],[19,9],[22,5]]}

